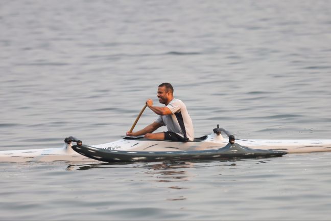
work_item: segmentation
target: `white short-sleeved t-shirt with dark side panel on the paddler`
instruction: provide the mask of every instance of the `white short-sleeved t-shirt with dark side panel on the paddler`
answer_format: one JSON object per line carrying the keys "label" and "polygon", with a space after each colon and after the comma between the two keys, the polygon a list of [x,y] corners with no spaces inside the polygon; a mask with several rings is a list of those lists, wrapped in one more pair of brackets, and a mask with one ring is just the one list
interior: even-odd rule
{"label": "white short-sleeved t-shirt with dark side panel on the paddler", "polygon": [[181,100],[174,98],[167,107],[173,114],[160,115],[155,122],[167,126],[168,131],[175,132],[181,137],[193,141],[193,123],[185,104]]}

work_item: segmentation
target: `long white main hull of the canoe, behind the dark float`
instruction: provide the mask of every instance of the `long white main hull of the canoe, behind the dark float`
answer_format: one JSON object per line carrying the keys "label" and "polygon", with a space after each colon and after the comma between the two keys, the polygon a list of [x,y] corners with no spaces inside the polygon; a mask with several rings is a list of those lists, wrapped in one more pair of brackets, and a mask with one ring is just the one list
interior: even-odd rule
{"label": "long white main hull of the canoe, behind the dark float", "polygon": [[[288,153],[331,151],[331,140],[236,140],[236,143],[254,149],[280,150]],[[206,150],[224,147],[228,140],[222,135],[211,134],[199,142],[174,142],[147,140],[125,137],[121,140],[91,145],[109,150],[132,151],[190,151]],[[72,149],[72,144],[64,144],[61,148],[5,150],[0,151],[0,162],[30,162],[30,161],[69,161],[88,162],[93,159],[82,156]]]}

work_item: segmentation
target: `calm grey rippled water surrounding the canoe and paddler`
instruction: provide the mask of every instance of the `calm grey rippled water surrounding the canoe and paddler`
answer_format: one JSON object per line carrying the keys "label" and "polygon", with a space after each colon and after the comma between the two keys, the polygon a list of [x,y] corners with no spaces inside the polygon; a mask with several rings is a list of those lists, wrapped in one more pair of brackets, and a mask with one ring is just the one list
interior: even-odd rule
{"label": "calm grey rippled water surrounding the canoe and paddler", "polygon": [[[329,1],[1,1],[0,149],[120,139],[162,82],[196,137],[220,124],[330,139],[330,14]],[[0,163],[0,219],[329,220],[330,156]]]}

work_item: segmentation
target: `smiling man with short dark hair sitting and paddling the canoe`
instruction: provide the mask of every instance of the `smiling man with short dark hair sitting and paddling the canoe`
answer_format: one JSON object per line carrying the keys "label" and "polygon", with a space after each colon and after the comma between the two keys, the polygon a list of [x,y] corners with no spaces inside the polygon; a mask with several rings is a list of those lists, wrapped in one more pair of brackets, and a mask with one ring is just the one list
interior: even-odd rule
{"label": "smiling man with short dark hair sitting and paddling the canoe", "polygon": [[[157,89],[159,102],[164,107],[153,106],[153,101],[148,99],[147,106],[159,117],[156,121],[136,132],[127,132],[127,136],[145,135],[147,139],[193,141],[194,129],[190,115],[188,115],[185,104],[174,98],[174,89],[170,83],[161,83]],[[167,126],[167,132],[153,133],[157,128]]]}

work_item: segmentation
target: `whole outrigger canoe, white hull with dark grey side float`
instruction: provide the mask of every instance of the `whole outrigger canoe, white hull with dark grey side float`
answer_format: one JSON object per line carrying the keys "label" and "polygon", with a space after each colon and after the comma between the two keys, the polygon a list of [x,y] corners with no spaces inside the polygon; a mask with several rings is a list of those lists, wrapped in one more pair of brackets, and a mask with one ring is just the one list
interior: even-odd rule
{"label": "whole outrigger canoe, white hull with dark grey side float", "polygon": [[[223,138],[221,132],[229,139]],[[73,142],[77,144],[73,145]],[[217,127],[210,135],[188,142],[124,137],[115,142],[85,145],[69,137],[65,139],[62,148],[0,151],[0,162],[218,160],[279,157],[286,153],[321,151],[331,151],[331,140],[237,139],[234,142],[229,132]]]}

